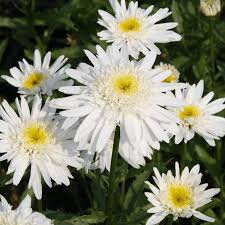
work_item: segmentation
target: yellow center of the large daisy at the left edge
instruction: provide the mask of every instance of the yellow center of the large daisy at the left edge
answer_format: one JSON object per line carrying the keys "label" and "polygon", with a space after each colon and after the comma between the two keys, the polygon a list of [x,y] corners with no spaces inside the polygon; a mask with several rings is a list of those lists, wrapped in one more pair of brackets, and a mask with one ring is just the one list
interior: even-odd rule
{"label": "yellow center of the large daisy at the left edge", "polygon": [[40,146],[48,144],[52,139],[52,133],[42,122],[30,122],[22,130],[22,141],[28,151],[37,150]]}

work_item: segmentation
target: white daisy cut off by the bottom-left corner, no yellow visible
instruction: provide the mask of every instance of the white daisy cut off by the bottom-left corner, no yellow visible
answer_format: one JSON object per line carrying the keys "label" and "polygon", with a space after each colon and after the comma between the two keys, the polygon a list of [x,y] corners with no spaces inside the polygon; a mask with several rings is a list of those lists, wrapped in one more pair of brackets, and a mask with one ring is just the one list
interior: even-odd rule
{"label": "white daisy cut off by the bottom-left corner, no yellow visible", "polygon": [[53,225],[53,222],[38,212],[32,212],[31,198],[27,196],[15,210],[0,195],[0,224],[1,225]]}

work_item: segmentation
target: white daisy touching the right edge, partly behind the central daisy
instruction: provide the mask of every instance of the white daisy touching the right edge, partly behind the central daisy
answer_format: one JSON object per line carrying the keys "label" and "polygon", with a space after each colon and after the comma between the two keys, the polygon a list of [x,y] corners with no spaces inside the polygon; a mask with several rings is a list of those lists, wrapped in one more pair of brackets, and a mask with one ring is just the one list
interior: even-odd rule
{"label": "white daisy touching the right edge, partly behind the central daisy", "polygon": [[170,129],[175,135],[176,144],[183,139],[185,143],[188,142],[197,133],[209,145],[215,146],[214,140],[219,140],[225,135],[225,118],[214,115],[225,108],[225,98],[210,102],[214,93],[210,92],[202,97],[203,90],[203,81],[197,85],[190,85],[183,91],[176,90],[176,98],[184,104],[183,107],[171,109],[179,119],[178,127]]}

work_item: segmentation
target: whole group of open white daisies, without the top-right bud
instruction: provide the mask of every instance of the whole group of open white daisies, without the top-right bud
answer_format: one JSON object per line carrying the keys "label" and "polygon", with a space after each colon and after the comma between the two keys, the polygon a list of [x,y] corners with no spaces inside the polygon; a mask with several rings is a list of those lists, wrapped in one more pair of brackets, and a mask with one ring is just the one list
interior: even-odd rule
{"label": "whole group of open white daisies, without the top-right bud", "polygon": [[[11,76],[2,78],[18,88],[14,111],[7,101],[0,106],[0,161],[9,163],[7,174],[18,185],[30,168],[28,188],[42,198],[43,181],[52,186],[70,184],[68,167],[110,171],[114,133],[120,128],[119,154],[135,168],[145,165],[160,143],[185,143],[195,134],[215,146],[225,135],[225,119],[214,114],[225,108],[225,98],[212,101],[213,92],[203,96],[204,82],[197,85],[179,83],[179,72],[168,64],[154,66],[161,52],[156,43],[180,41],[172,28],[177,23],[159,23],[171,12],[168,8],[152,13],[138,7],[138,2],[109,0],[115,16],[99,10],[98,23],[105,30],[101,40],[112,43],[106,50],[96,46],[96,54],[85,50],[91,64],[80,63],[76,69],[60,56],[50,64],[51,53],[44,59],[35,50],[33,65],[25,59]],[[73,86],[74,80],[82,86]],[[54,90],[68,95],[51,99]],[[43,96],[49,96],[45,102]],[[61,109],[56,114],[56,110]],[[211,201],[218,188],[200,184],[199,165],[182,173],[176,163],[171,171],[160,175],[154,168],[154,186],[146,193],[153,213],[147,225],[157,224],[167,215],[174,219],[192,215],[209,222],[197,209]],[[53,224],[40,213],[32,213],[31,199],[26,197],[12,210],[1,197],[0,222],[4,225]]]}

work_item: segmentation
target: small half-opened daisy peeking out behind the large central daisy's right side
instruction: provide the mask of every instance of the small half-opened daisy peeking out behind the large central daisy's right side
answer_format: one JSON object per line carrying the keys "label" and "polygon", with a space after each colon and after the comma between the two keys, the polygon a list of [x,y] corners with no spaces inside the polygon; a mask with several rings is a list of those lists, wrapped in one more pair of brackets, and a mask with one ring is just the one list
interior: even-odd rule
{"label": "small half-opened daisy peeking out behind the large central daisy's right side", "polygon": [[155,66],[155,68],[161,69],[162,71],[166,71],[166,70],[171,71],[171,75],[168,76],[163,82],[166,82],[166,83],[179,82],[180,72],[176,69],[175,66],[161,62],[159,65]]}

